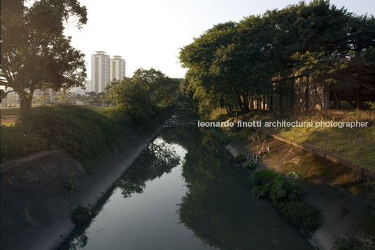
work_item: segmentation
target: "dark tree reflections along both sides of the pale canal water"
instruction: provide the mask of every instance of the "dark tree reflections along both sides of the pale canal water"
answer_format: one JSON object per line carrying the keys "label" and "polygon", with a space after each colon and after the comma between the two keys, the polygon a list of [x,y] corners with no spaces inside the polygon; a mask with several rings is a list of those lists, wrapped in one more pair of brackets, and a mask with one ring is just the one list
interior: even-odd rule
{"label": "dark tree reflections along both sides of the pale canal water", "polygon": [[[183,159],[178,157],[178,145],[185,149]],[[204,244],[219,249],[311,249],[269,202],[253,196],[243,169],[234,164],[210,130],[196,126],[164,128],[106,196],[117,188],[125,198],[143,193],[148,181],[177,165],[182,165],[187,186],[177,208],[179,220]],[[76,230],[69,249],[87,244],[89,226]]]}

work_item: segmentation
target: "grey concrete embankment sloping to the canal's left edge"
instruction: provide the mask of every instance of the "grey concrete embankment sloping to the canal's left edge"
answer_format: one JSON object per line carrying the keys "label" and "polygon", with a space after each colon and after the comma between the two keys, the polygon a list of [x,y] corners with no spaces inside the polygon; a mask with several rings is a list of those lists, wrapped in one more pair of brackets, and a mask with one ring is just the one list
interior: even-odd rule
{"label": "grey concrete embankment sloping to the canal's left edge", "polygon": [[[63,151],[45,151],[3,162],[1,173],[1,249],[55,249],[73,230],[71,209],[93,206],[143,148],[160,132],[125,132],[127,143],[92,167],[92,173]],[[76,186],[71,192],[69,186]]]}

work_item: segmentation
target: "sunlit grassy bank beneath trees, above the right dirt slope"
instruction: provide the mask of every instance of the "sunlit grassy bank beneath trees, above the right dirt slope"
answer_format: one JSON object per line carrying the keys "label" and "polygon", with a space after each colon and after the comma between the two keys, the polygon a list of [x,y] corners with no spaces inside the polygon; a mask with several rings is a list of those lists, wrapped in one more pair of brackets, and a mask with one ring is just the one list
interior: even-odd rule
{"label": "sunlit grassy bank beneath trees, above the right dirt slope", "polygon": [[[210,120],[227,120],[225,110],[217,110],[211,114]],[[327,151],[368,169],[375,169],[375,111],[317,111],[309,114],[290,115],[271,113],[268,111],[251,111],[242,114],[239,120],[262,120],[261,130],[277,134],[299,144]],[[368,122],[367,127],[264,127],[267,121],[311,121],[313,124],[323,121],[356,121]],[[239,133],[246,137],[250,128],[243,128]]]}

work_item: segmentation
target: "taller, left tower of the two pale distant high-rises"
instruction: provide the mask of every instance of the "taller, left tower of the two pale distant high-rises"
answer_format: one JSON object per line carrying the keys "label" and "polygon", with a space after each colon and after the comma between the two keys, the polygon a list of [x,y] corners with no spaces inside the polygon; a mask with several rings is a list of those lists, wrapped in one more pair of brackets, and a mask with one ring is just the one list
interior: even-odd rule
{"label": "taller, left tower of the two pale distant high-rises", "polygon": [[91,56],[91,91],[104,92],[109,81],[110,57],[104,51]]}

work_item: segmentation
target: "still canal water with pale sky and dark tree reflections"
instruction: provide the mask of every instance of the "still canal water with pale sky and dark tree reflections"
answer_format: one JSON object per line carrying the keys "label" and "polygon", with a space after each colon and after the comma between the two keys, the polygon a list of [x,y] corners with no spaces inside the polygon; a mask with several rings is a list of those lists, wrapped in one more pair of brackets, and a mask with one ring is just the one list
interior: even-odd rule
{"label": "still canal water with pale sky and dark tree reflections", "polygon": [[194,116],[173,116],[59,249],[312,249]]}

